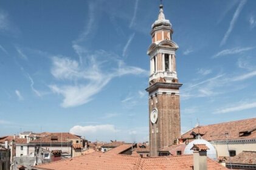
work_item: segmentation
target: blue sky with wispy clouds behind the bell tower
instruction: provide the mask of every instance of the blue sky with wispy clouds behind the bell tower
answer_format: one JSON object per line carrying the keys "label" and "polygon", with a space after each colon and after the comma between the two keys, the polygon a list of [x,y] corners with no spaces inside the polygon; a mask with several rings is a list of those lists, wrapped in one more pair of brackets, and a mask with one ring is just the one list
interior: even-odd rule
{"label": "blue sky with wispy clouds behind the bell tower", "polygon": [[[256,1],[164,1],[182,132],[256,117]],[[148,140],[157,0],[0,0],[0,135],[73,132]]]}

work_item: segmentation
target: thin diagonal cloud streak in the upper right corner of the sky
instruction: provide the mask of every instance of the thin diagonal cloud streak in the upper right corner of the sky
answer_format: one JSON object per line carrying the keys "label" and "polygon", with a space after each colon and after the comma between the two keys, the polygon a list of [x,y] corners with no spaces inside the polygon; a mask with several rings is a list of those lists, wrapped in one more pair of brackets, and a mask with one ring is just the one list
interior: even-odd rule
{"label": "thin diagonal cloud streak in the upper right corner of the sky", "polygon": [[241,10],[243,9],[244,5],[246,4],[247,0],[241,0],[238,7],[237,7],[237,10],[235,10],[235,13],[233,15],[233,18],[232,20],[230,21],[230,24],[229,24],[229,29],[227,29],[227,32],[225,33],[221,43],[220,43],[220,46],[223,46],[224,44],[226,44],[226,41],[227,41],[227,38],[229,38],[229,35],[230,33],[232,32],[232,30],[234,29],[234,26],[235,26],[235,22],[237,21],[238,19],[238,16],[240,15],[240,12]]}

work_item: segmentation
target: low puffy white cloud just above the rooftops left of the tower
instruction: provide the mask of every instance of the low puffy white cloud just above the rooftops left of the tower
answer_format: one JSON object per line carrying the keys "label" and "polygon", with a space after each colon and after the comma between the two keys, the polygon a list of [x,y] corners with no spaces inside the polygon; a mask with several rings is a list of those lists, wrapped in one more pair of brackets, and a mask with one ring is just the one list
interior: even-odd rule
{"label": "low puffy white cloud just above the rooftops left of the tower", "polygon": [[112,124],[99,124],[95,126],[74,126],[69,132],[75,135],[81,135],[86,137],[86,139],[95,141],[104,141],[106,139],[114,139],[116,132],[116,127]]}

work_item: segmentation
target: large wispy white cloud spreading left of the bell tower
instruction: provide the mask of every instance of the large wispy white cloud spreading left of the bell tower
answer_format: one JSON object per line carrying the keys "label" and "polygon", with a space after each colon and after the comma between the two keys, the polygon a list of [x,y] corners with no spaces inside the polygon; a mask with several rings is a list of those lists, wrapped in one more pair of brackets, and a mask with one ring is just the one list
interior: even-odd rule
{"label": "large wispy white cloud spreading left of the bell tower", "polygon": [[[105,56],[105,58],[102,58]],[[139,67],[126,66],[112,53],[103,50],[86,56],[86,64],[63,56],[52,59],[52,75],[57,80],[68,80],[67,85],[51,84],[52,92],[63,95],[61,106],[74,107],[91,101],[113,78],[124,75],[147,75]]]}

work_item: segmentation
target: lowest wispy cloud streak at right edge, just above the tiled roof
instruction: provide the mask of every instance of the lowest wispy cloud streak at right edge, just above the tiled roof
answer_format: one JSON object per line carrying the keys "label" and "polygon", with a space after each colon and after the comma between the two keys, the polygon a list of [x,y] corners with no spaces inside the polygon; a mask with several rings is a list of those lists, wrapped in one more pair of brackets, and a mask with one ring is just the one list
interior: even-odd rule
{"label": "lowest wispy cloud streak at right edge, just above the tiled roof", "polygon": [[237,112],[241,110],[252,109],[256,107],[256,102],[254,103],[241,103],[233,107],[226,107],[224,109],[218,109],[213,114],[226,114],[229,112]]}

